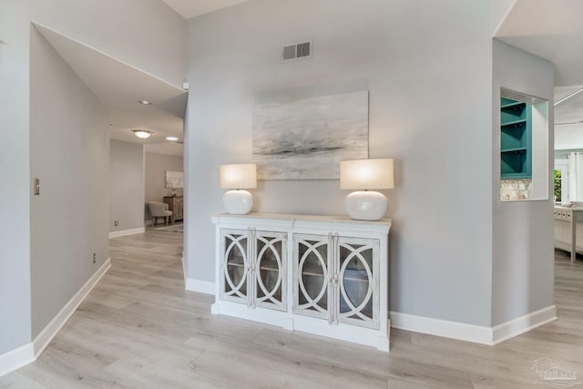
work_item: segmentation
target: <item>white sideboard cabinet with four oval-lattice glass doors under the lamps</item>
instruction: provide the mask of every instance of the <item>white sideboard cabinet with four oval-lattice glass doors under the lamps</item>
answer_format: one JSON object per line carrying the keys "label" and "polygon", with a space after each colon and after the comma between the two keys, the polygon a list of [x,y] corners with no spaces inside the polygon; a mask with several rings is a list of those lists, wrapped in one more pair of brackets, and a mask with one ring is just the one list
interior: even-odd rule
{"label": "white sideboard cabinet with four oval-lattice glass doors under the lamps", "polygon": [[391,220],[220,214],[213,313],[389,351]]}

